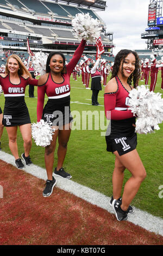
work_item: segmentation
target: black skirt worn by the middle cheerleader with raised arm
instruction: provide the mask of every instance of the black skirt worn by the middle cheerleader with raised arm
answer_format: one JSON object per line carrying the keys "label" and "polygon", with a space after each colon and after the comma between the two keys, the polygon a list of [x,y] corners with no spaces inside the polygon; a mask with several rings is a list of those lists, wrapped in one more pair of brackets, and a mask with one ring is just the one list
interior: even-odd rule
{"label": "black skirt worn by the middle cheerleader with raised arm", "polygon": [[70,100],[58,103],[56,99],[48,99],[42,113],[42,119],[51,126],[62,127],[71,123],[73,117],[70,111]]}

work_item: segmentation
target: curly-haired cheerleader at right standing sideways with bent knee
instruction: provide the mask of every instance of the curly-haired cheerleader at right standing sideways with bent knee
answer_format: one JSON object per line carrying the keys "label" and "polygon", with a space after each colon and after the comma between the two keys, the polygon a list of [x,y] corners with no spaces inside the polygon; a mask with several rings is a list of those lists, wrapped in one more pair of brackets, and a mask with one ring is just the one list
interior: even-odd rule
{"label": "curly-haired cheerleader at right standing sideways with bent knee", "polygon": [[[118,221],[126,220],[128,213],[134,212],[130,203],[146,177],[146,170],[136,150],[135,117],[128,110],[129,91],[138,85],[139,78],[137,53],[130,50],[118,52],[104,93],[105,115],[111,120],[105,137],[106,150],[115,155],[110,205],[114,208]],[[121,197],[125,169],[129,170],[131,177],[126,182]]]}

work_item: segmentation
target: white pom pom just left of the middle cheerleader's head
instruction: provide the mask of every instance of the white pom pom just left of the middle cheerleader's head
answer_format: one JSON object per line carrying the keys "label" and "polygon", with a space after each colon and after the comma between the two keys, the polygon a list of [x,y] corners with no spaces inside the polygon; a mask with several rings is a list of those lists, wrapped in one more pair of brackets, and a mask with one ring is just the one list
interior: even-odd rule
{"label": "white pom pom just left of the middle cheerleader's head", "polygon": [[32,63],[35,71],[40,75],[46,74],[46,61],[48,54],[44,52],[36,52],[35,56],[32,57]]}

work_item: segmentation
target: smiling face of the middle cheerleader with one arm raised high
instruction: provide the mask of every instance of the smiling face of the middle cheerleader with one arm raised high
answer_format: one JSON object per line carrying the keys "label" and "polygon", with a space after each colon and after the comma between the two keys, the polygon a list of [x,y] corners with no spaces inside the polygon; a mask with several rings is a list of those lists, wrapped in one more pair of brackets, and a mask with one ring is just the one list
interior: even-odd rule
{"label": "smiling face of the middle cheerleader with one arm raised high", "polygon": [[61,55],[55,54],[51,57],[49,66],[53,73],[59,74],[64,68],[64,59]]}

